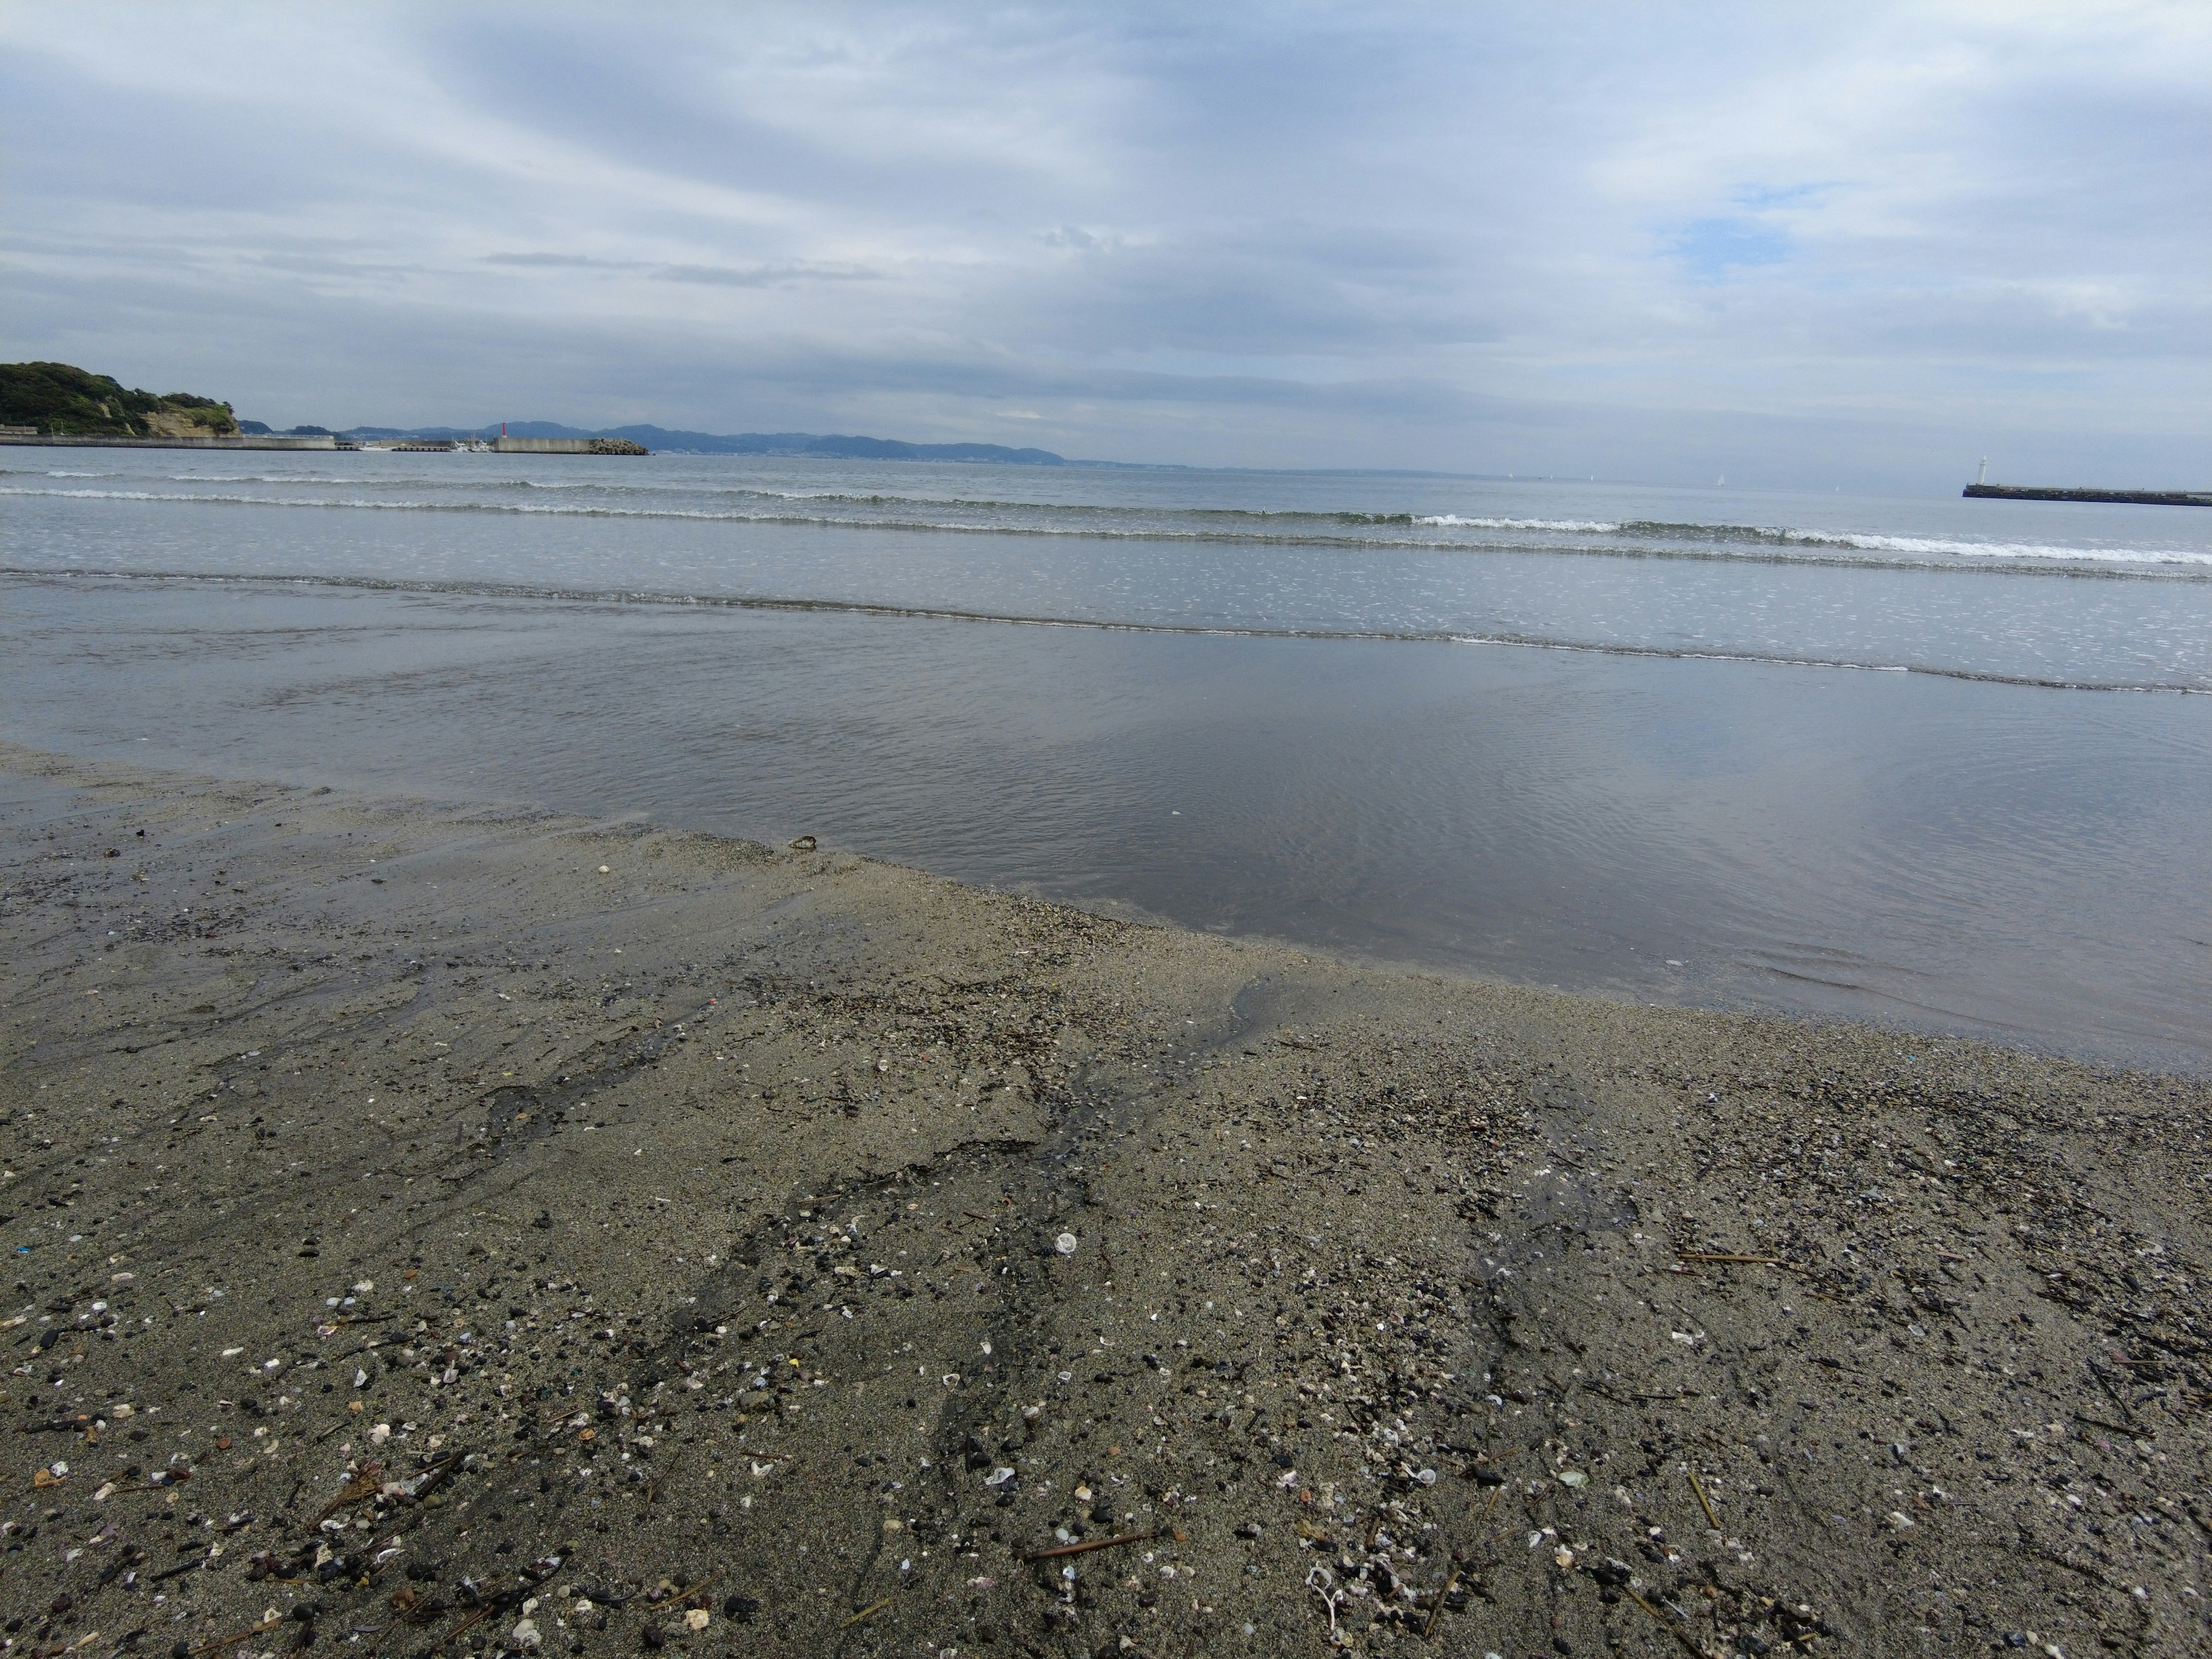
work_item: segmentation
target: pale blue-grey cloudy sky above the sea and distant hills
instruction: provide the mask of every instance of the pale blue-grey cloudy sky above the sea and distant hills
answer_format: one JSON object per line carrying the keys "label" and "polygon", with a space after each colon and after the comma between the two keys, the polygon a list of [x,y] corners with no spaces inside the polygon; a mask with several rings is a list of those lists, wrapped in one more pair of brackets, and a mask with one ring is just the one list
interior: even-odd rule
{"label": "pale blue-grey cloudy sky above the sea and distant hills", "polygon": [[2212,484],[2212,7],[0,4],[0,354],[274,425]]}

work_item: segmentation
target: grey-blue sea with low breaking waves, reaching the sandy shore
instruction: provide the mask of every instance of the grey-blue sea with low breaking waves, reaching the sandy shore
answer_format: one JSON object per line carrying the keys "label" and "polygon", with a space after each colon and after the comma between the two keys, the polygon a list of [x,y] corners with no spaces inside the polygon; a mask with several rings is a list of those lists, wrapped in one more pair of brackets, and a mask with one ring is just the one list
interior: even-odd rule
{"label": "grey-blue sea with low breaking waves, reaching the sandy shore", "polygon": [[2212,511],[0,449],[0,730],[2212,1064]]}

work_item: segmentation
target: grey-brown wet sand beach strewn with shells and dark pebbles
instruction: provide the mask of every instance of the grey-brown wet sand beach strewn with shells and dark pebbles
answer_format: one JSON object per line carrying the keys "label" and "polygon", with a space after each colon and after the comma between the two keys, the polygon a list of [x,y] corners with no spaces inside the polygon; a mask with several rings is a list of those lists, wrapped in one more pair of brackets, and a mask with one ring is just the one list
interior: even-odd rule
{"label": "grey-brown wet sand beach strewn with shells and dark pebbles", "polygon": [[2212,1648],[2203,1079],[27,750],[0,825],[9,1655]]}

